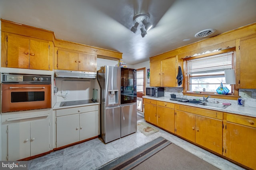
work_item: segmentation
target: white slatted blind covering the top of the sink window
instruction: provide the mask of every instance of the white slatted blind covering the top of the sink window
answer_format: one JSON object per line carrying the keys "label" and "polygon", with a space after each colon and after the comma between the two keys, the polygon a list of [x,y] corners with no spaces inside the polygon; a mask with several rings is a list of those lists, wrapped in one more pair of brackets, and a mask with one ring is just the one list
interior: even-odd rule
{"label": "white slatted blind covering the top of the sink window", "polygon": [[199,74],[206,72],[219,72],[233,68],[234,52],[212,55],[187,61],[187,73]]}

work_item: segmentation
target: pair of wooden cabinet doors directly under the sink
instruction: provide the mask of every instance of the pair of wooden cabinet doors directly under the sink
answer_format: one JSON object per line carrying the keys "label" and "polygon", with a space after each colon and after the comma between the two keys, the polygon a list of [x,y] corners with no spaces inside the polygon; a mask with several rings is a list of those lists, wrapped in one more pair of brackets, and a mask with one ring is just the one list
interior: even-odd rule
{"label": "pair of wooden cabinet doors directly under the sink", "polygon": [[222,154],[222,121],[176,111],[176,134]]}

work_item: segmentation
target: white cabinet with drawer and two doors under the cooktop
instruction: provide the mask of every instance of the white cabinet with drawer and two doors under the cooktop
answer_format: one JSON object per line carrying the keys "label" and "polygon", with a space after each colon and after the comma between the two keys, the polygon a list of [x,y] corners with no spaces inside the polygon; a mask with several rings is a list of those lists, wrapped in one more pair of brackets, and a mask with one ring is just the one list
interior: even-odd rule
{"label": "white cabinet with drawer and two doors under the cooktop", "polygon": [[98,105],[56,110],[56,147],[98,136],[98,114]]}

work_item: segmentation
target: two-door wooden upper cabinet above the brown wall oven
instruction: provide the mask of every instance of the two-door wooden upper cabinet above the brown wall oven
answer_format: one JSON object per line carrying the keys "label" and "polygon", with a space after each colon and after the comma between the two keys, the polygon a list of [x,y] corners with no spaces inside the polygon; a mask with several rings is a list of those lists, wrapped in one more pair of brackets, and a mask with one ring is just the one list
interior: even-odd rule
{"label": "two-door wooden upper cabinet above the brown wall oven", "polygon": [[14,35],[6,41],[7,67],[49,70],[49,42]]}

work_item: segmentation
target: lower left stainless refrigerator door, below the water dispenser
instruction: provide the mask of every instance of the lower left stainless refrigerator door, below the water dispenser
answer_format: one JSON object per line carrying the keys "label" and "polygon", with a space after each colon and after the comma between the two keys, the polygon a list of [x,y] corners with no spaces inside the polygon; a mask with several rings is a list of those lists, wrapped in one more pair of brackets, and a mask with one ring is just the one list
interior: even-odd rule
{"label": "lower left stainless refrigerator door, below the water dispenser", "polygon": [[102,129],[102,139],[105,143],[120,138],[120,106],[106,107],[104,120],[104,129]]}

